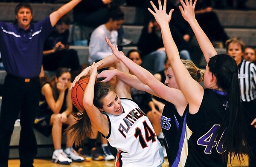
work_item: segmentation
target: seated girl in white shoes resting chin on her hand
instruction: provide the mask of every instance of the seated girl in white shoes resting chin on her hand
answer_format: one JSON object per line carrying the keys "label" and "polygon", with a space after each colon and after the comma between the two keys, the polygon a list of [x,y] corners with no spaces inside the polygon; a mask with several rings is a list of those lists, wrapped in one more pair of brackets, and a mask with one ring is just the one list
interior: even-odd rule
{"label": "seated girl in white shoes resting chin on her hand", "polygon": [[70,138],[70,131],[67,131],[66,149],[61,149],[61,134],[76,120],[71,114],[73,105],[71,99],[71,73],[67,68],[58,68],[52,78],[42,83],[41,93],[44,96],[44,103],[40,105],[35,129],[44,136],[52,134],[54,152],[52,162],[58,164],[70,164],[71,162],[83,162],[84,158],[79,156],[73,149],[74,139]]}

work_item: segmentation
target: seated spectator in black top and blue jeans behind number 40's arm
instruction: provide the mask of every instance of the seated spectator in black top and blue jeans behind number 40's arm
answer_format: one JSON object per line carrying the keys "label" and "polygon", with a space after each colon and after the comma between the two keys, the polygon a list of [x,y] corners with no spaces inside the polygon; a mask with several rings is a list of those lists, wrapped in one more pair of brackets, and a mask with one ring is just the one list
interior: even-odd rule
{"label": "seated spectator in black top and blue jeans behind number 40's arm", "polygon": [[[184,45],[179,45],[180,58],[191,59],[186,42]],[[166,59],[166,51],[163,46],[160,26],[152,19],[145,25],[141,31],[137,47],[141,52],[142,67],[156,73],[162,71],[164,68],[164,61]]]}

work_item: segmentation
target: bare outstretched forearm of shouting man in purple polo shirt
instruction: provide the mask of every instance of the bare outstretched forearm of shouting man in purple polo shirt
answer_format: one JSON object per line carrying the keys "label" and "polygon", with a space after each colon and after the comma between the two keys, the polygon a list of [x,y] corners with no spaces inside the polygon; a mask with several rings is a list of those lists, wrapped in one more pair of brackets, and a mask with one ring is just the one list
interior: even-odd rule
{"label": "bare outstretched forearm of shouting man in purple polo shirt", "polygon": [[71,11],[81,0],[71,0],[70,2],[61,6],[57,11],[50,14],[50,21],[52,27],[58,22],[58,20],[64,15]]}

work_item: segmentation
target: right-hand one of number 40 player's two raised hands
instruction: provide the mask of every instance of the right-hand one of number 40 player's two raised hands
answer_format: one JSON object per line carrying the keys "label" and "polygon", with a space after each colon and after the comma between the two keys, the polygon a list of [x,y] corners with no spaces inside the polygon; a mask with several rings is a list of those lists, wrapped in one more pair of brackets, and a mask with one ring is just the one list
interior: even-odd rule
{"label": "right-hand one of number 40 player's two raised hands", "polygon": [[189,22],[191,20],[195,20],[195,4],[196,1],[194,3],[192,3],[192,0],[185,0],[185,3],[183,2],[183,0],[180,0],[180,3],[182,6],[179,6],[180,12],[183,16],[183,18]]}

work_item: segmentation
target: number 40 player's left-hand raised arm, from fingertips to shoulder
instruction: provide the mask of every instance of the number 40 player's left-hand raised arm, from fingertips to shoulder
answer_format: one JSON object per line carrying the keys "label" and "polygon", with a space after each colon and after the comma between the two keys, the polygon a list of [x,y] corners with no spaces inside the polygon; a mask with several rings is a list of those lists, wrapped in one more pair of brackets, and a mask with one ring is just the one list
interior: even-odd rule
{"label": "number 40 player's left-hand raised arm, from fingertips to shoulder", "polygon": [[[187,0],[186,3],[188,3]],[[166,14],[166,0],[164,0],[163,7],[161,1],[158,0],[158,9],[152,1],[151,5],[154,8],[154,11],[150,8],[148,8],[148,11],[153,14],[157,23],[160,25],[163,44],[174,71],[177,84],[189,103],[189,112],[192,114],[197,113],[204,95],[204,89],[198,82],[192,79],[186,67],[180,60],[179,51],[169,28],[169,21],[171,20],[173,9],[169,14]]]}

